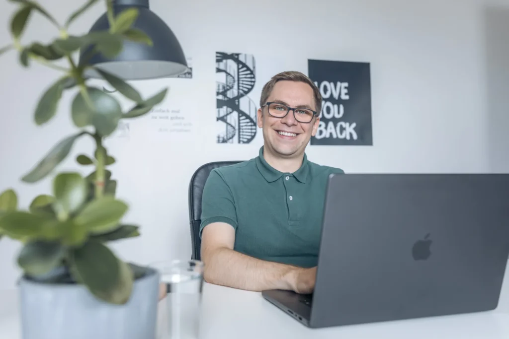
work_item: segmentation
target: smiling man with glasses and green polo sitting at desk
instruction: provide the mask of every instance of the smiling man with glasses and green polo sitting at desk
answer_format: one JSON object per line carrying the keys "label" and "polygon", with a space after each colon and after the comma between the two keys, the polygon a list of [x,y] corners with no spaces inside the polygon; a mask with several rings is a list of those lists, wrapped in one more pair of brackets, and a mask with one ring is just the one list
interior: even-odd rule
{"label": "smiling man with glasses and green polo sitting at desk", "polygon": [[205,184],[205,281],[251,291],[313,291],[328,176],[344,173],[309,162],[304,153],[321,106],[319,89],[300,72],[279,73],[263,87],[259,156],[213,170]]}

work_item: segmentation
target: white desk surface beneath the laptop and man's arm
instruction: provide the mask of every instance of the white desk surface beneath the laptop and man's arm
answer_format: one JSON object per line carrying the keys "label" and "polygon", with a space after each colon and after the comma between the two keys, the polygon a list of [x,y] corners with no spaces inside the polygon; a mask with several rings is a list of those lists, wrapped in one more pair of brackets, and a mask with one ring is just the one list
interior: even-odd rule
{"label": "white desk surface beneath the laptop and man's arm", "polygon": [[[0,339],[21,338],[17,307],[17,291],[0,292]],[[324,329],[301,325],[255,292],[205,284],[202,307],[201,339],[509,338],[509,295],[492,312]]]}

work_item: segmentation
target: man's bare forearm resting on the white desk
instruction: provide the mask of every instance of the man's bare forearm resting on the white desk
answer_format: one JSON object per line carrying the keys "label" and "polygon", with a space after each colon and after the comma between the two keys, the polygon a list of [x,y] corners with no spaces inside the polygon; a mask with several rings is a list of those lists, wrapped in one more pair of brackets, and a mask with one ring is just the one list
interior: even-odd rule
{"label": "man's bare forearm resting on the white desk", "polygon": [[242,290],[292,290],[292,274],[297,267],[264,261],[220,248],[205,261],[205,280],[216,285]]}

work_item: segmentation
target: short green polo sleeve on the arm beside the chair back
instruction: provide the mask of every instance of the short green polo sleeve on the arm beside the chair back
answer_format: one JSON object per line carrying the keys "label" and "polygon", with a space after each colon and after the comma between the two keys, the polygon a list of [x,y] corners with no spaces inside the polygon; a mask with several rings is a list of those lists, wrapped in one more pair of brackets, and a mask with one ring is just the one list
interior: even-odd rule
{"label": "short green polo sleeve on the arm beside the chair back", "polygon": [[212,223],[226,223],[237,230],[237,211],[233,194],[217,169],[210,172],[205,182],[202,195],[201,220],[200,238],[205,226]]}

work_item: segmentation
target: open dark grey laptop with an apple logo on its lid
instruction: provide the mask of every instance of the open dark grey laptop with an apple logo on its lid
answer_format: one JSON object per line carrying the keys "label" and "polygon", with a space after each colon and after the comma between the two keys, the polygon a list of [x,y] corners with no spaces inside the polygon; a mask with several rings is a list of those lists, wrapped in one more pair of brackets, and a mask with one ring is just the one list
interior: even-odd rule
{"label": "open dark grey laptop with an apple logo on its lid", "polygon": [[263,291],[311,328],[496,309],[507,174],[332,174],[313,294]]}

